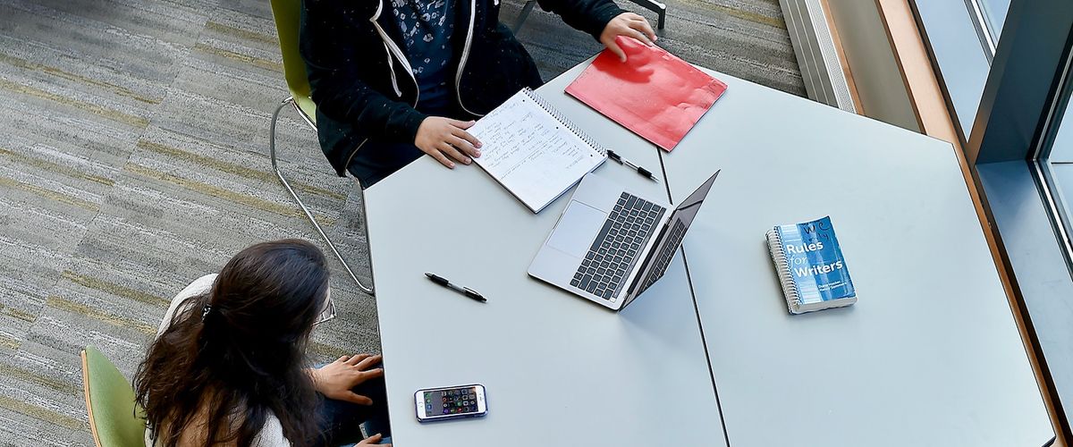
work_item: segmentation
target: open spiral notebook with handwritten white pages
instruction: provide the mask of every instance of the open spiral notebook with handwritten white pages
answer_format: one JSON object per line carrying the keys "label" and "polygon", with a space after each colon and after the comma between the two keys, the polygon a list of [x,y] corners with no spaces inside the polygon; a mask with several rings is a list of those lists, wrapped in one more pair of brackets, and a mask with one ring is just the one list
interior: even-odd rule
{"label": "open spiral notebook with handwritten white pages", "polygon": [[607,160],[607,151],[529,88],[468,130],[481,140],[473,161],[540,212]]}

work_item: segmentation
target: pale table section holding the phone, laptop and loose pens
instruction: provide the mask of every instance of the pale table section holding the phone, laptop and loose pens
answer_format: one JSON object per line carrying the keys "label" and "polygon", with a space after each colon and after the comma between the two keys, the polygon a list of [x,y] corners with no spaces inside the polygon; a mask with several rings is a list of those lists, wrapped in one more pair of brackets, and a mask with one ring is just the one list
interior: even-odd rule
{"label": "pale table section holding the phone, laptop and loose pens", "polygon": [[[651,145],[562,93],[586,64],[539,92],[658,173]],[[653,198],[667,194],[663,183],[609,161],[596,174]],[[396,445],[724,445],[680,256],[620,313],[527,275],[569,194],[533,214],[476,166],[449,170],[430,158],[366,191]],[[437,286],[425,271],[488,302]],[[486,417],[416,421],[414,391],[472,383],[487,387]]]}

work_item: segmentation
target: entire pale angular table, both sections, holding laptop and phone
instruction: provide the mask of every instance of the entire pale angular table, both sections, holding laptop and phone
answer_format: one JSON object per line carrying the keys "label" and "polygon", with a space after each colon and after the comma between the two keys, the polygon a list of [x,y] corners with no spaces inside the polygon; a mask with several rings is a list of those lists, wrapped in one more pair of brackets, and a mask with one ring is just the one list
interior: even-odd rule
{"label": "entire pale angular table, both sections, holding laptop and phone", "polygon": [[[723,169],[686,238],[692,282],[679,256],[616,314],[532,280],[565,199],[533,215],[475,167],[418,160],[366,192],[397,444],[724,445],[721,417],[734,446],[1054,435],[950,145],[717,74],[727,92],[660,154],[561,93],[584,65],[540,92],[628,159],[662,162],[674,198]],[[666,194],[615,164],[597,174]],[[861,301],[789,315],[764,232],[823,214]],[[474,382],[487,417],[415,421],[413,391]]]}

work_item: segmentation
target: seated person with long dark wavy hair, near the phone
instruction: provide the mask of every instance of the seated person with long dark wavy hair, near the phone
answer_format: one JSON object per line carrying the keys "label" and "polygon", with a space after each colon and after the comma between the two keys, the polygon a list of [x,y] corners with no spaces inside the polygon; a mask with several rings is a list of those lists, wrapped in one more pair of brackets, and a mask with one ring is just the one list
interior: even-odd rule
{"label": "seated person with long dark wavy hair, near the phone", "polygon": [[368,420],[387,429],[380,356],[306,368],[334,310],[327,260],[303,240],[252,245],[187,286],[135,375],[146,446],[338,445]]}

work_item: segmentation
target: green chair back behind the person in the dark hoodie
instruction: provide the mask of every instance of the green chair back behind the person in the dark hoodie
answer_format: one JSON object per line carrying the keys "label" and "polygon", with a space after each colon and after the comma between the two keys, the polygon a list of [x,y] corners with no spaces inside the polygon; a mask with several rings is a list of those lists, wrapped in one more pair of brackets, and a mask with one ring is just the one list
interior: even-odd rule
{"label": "green chair back behind the person in the dark hoodie", "polygon": [[279,33],[279,49],[283,55],[283,77],[286,88],[311,121],[317,122],[317,105],[309,99],[309,77],[306,62],[298,53],[298,30],[302,19],[302,0],[271,0],[271,15]]}

